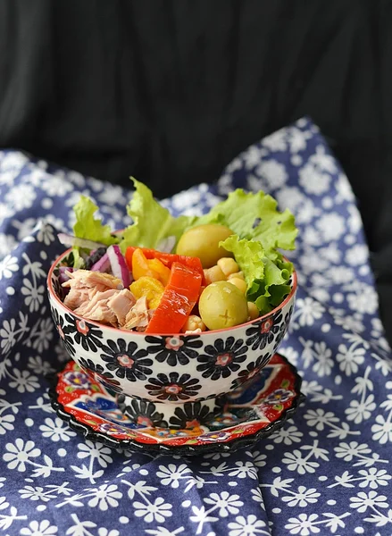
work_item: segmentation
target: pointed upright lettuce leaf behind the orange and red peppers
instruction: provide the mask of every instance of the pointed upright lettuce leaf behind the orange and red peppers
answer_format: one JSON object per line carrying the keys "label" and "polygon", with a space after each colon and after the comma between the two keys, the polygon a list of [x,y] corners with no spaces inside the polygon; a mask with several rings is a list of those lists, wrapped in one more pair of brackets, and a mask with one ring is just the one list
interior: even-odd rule
{"label": "pointed upright lettuce leaf behind the orange and red peppers", "polygon": [[127,206],[127,212],[133,223],[122,233],[120,243],[122,253],[129,246],[156,248],[163,239],[179,237],[196,220],[196,216],[179,216],[175,218],[170,212],[155,201],[150,188],[138,180],[133,180],[135,192]]}

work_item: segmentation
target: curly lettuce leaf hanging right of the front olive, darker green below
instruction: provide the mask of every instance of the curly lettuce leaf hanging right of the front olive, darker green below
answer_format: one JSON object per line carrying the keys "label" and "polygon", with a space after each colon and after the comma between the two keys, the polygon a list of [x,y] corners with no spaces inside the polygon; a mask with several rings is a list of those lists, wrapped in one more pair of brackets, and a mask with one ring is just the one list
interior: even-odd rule
{"label": "curly lettuce leaf hanging right of the front olive, darker green below", "polygon": [[246,297],[261,314],[269,313],[288,296],[293,265],[279,252],[274,252],[273,260],[266,255],[261,242],[239,239],[238,235],[231,235],[221,246],[234,254],[246,281]]}

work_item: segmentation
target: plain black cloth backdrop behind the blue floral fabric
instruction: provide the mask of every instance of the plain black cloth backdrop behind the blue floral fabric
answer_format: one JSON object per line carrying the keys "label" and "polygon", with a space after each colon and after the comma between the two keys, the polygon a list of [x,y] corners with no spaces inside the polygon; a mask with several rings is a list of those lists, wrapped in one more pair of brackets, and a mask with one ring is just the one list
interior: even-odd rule
{"label": "plain black cloth backdrop behind the blue floral fabric", "polygon": [[392,338],[392,2],[0,0],[0,147],[157,197],[310,115],[351,181]]}

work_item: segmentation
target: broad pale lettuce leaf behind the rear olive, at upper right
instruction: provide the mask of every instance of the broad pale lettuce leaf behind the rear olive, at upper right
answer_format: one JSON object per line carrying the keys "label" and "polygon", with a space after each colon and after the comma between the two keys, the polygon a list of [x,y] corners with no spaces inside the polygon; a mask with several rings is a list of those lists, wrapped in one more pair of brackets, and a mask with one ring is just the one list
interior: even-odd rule
{"label": "broad pale lettuce leaf behind the rear olive, at upper right", "polygon": [[241,239],[259,240],[265,254],[271,259],[278,256],[277,247],[294,249],[296,224],[294,215],[287,209],[280,213],[277,201],[263,191],[246,193],[243,189],[231,192],[225,201],[199,218],[196,225],[221,223],[238,234]]}

